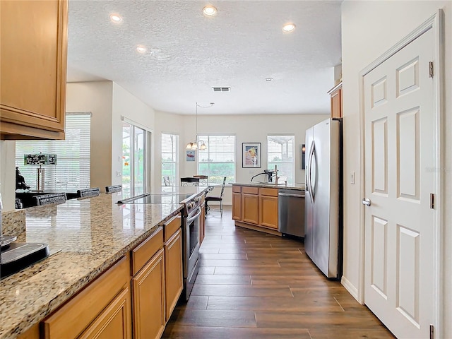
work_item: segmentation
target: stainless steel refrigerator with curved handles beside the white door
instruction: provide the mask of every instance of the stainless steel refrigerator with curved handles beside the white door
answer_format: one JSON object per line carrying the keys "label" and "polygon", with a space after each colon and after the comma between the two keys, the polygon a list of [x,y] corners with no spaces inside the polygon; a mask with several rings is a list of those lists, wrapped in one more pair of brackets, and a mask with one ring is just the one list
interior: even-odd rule
{"label": "stainless steel refrigerator with curved handles beside the white door", "polygon": [[328,277],[339,279],[343,262],[342,119],[306,131],[304,250]]}

